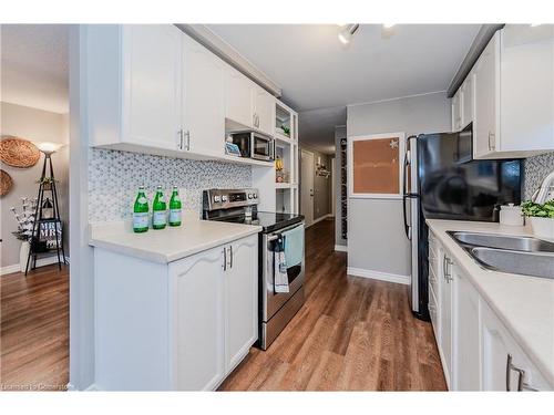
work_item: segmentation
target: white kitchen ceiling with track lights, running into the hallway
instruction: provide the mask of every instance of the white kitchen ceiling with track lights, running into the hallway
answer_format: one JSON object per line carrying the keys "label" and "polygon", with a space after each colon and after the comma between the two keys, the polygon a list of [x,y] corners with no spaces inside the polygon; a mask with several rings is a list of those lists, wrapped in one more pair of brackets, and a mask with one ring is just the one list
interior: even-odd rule
{"label": "white kitchen ceiling with track lights, running into the hallway", "polygon": [[283,87],[300,112],[301,142],[329,151],[329,123],[346,123],[346,105],[447,90],[480,24],[400,24],[388,38],[361,24],[347,46],[335,24],[208,28]]}

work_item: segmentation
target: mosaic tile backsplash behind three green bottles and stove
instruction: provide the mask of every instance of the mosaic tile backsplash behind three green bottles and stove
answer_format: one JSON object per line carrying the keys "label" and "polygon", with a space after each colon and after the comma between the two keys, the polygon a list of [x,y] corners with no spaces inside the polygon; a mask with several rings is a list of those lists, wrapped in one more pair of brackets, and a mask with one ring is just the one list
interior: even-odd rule
{"label": "mosaic tile backsplash behind three green bottles and stove", "polygon": [[157,185],[181,189],[184,209],[202,209],[202,190],[252,187],[252,168],[220,162],[199,162],[92,148],[89,158],[89,220],[112,221],[132,216],[138,186],[152,200]]}

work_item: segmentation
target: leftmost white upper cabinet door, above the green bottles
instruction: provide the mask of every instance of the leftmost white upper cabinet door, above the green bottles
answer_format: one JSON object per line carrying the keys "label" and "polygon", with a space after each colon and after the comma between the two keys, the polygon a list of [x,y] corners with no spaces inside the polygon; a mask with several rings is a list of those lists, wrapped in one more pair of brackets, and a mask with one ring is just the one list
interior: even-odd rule
{"label": "leftmost white upper cabinet door, above the green bottles", "polygon": [[170,24],[126,24],[122,30],[122,141],[176,149],[182,125],[183,33]]}

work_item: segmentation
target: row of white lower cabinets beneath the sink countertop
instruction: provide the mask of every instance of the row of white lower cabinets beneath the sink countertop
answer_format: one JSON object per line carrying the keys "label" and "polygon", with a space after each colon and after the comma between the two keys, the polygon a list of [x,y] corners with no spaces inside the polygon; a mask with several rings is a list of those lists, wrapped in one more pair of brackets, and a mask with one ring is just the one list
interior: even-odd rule
{"label": "row of white lower cabinets beneath the sink countertop", "polygon": [[437,236],[429,238],[429,309],[449,390],[553,390]]}

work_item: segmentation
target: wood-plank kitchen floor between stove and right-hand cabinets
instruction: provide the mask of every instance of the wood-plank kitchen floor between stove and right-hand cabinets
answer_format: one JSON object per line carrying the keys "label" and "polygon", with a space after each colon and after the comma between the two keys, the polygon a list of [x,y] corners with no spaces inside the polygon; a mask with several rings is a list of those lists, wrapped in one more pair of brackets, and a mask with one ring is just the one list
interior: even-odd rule
{"label": "wood-plank kitchen floor between stove and right-hand cabinets", "polygon": [[306,231],[306,304],[219,390],[447,390],[431,324],[412,317],[408,288],[347,277],[334,232],[331,220]]}

